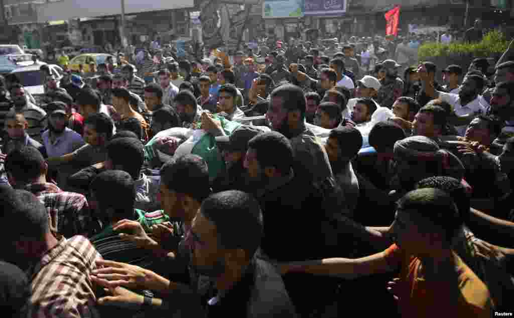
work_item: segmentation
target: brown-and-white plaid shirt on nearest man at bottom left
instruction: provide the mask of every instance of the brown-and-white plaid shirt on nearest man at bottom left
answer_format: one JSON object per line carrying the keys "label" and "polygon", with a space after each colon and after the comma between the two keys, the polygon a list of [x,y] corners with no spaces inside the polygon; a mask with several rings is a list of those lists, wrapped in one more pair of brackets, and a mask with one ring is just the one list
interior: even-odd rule
{"label": "brown-and-white plaid shirt on nearest man at bottom left", "polygon": [[90,273],[102,259],[83,236],[62,238],[27,272],[30,318],[99,318]]}

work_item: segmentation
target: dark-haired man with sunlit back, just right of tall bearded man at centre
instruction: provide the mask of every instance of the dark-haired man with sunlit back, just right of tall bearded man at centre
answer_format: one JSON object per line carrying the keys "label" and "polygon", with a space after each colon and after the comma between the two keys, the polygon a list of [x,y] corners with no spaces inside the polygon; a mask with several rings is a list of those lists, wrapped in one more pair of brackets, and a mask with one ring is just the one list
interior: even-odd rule
{"label": "dark-haired man with sunlit back, just right of tall bearded man at centre", "polygon": [[336,181],[341,187],[343,202],[348,217],[352,217],[359,198],[359,182],[351,161],[362,148],[362,134],[353,127],[338,127],[331,130],[325,150]]}

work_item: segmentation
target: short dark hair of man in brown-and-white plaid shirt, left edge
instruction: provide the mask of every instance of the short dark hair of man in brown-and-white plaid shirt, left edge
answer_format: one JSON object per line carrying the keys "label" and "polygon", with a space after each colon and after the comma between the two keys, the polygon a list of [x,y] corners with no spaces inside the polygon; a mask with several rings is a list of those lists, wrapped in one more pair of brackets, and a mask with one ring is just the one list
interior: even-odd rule
{"label": "short dark hair of man in brown-and-white plaid shirt, left edge", "polygon": [[9,224],[9,231],[2,231],[4,242],[22,238],[42,241],[49,231],[48,211],[32,193],[25,190],[5,190],[0,196],[0,221]]}

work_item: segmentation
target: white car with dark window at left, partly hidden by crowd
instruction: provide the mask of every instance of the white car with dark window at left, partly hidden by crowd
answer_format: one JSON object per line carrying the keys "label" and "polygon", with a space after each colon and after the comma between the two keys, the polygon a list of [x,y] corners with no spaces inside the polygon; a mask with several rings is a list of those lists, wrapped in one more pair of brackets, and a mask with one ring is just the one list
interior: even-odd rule
{"label": "white car with dark window at left, partly hidden by crowd", "polygon": [[62,78],[63,69],[54,64],[38,62],[30,66],[15,68],[10,73],[14,74],[20,80],[20,83],[24,87],[25,91],[32,95],[36,102],[38,102],[39,97],[45,94],[45,89],[43,86],[45,78],[43,73],[40,71],[41,65],[48,65],[52,75],[56,76],[57,83],[59,85],[59,82]]}

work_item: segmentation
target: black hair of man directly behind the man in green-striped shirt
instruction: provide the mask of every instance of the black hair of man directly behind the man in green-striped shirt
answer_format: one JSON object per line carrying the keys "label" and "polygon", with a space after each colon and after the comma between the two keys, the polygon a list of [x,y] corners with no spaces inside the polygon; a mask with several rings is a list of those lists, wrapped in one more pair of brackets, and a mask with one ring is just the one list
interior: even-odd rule
{"label": "black hair of man directly behind the man in green-striped shirt", "polygon": [[134,180],[139,179],[139,173],[144,162],[144,146],[141,140],[135,138],[116,138],[107,144],[107,157],[113,166],[121,166]]}

